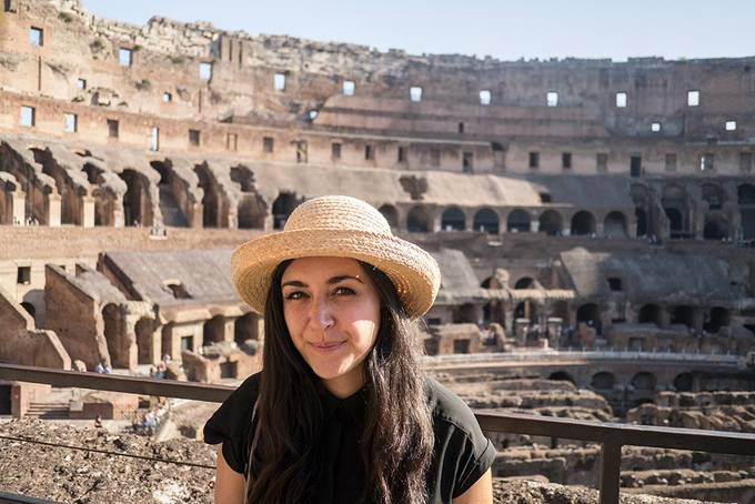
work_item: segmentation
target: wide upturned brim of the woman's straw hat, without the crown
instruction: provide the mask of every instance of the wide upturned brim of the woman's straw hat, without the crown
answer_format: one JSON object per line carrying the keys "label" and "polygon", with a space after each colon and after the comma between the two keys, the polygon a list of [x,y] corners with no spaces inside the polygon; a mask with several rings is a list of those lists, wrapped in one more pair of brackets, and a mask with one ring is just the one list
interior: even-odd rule
{"label": "wide upturned brim of the woman's straw hat, without the crown", "polygon": [[231,258],[236,292],[263,314],[278,264],[298,258],[351,258],[381,270],[393,282],[412,319],[424,315],[440,288],[437,263],[421,248],[396,236],[354,230],[283,231],[240,245]]}

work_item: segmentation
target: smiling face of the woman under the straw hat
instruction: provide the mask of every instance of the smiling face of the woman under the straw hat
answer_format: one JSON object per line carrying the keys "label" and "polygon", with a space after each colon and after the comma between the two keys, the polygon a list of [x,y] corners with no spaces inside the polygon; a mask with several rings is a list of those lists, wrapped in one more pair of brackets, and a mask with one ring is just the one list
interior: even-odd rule
{"label": "smiling face of the woman under the straw hat", "polygon": [[304,361],[328,390],[346,397],[364,383],[364,357],[380,329],[380,298],[361,264],[302,258],[281,280],[283,316]]}

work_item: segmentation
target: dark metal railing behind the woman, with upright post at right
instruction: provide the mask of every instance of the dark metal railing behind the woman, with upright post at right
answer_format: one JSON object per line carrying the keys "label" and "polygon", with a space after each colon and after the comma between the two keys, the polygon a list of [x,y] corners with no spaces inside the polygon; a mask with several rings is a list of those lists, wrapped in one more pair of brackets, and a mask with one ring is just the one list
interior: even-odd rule
{"label": "dark metal railing behind the woman, with upright post at right", "polygon": [[[222,402],[234,390],[224,385],[79,373],[16,364],[0,364],[0,380],[208,402]],[[600,443],[601,504],[618,503],[622,446],[652,446],[735,455],[755,454],[755,434],[587,422],[487,410],[475,411],[475,416],[483,431]]]}

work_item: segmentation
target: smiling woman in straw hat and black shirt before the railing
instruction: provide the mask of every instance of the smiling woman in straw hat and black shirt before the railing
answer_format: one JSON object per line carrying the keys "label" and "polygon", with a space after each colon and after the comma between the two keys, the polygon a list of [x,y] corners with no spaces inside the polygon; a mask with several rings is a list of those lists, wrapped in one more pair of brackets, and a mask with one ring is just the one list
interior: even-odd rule
{"label": "smiling woman in straw hat and black shirt before the railing", "polygon": [[492,503],[470,409],[419,365],[440,270],[349,196],[296,208],[231,260],[264,314],[263,370],[204,427],[219,503]]}

